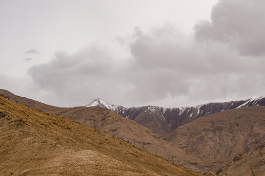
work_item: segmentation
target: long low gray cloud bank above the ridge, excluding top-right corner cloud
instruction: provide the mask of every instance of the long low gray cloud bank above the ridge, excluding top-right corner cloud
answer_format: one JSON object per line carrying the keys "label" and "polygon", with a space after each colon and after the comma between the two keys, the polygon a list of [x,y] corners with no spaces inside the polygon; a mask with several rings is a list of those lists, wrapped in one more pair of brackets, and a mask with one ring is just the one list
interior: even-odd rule
{"label": "long low gray cloud bank above the ridge, excluding top-right corner cloud", "polygon": [[[178,107],[264,95],[261,56],[239,55],[216,41],[197,42],[169,25],[150,32],[136,28],[124,40],[128,58],[91,44],[73,54],[56,52],[49,63],[32,66],[28,74],[36,88],[50,92],[46,98],[60,106],[101,97],[123,106],[155,102]],[[168,97],[175,104],[166,104]]]}

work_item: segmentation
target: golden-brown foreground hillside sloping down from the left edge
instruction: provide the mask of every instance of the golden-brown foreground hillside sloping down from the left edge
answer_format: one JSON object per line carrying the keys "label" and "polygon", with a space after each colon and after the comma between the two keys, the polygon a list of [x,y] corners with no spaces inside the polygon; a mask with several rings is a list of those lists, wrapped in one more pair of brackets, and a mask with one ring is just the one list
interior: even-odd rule
{"label": "golden-brown foreground hillside sloping down from the left edge", "polygon": [[108,133],[0,95],[0,175],[200,176]]}

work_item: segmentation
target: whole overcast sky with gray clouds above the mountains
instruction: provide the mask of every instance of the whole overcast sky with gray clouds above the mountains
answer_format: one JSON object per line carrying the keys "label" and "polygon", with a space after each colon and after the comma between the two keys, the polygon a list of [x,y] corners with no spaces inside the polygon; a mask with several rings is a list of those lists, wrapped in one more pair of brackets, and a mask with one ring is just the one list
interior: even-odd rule
{"label": "whole overcast sky with gray clouds above the mountains", "polygon": [[0,0],[0,88],[59,107],[265,96],[264,0]]}

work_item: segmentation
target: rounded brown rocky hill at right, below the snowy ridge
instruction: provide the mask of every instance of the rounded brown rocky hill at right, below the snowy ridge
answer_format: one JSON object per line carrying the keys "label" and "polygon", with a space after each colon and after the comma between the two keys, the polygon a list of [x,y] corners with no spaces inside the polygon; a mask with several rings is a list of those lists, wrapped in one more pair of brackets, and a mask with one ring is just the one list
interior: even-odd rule
{"label": "rounded brown rocky hill at right, below the snowy ridge", "polygon": [[182,144],[187,154],[198,156],[204,167],[216,172],[238,154],[255,149],[265,140],[265,107],[240,108],[200,117],[170,133],[168,140]]}

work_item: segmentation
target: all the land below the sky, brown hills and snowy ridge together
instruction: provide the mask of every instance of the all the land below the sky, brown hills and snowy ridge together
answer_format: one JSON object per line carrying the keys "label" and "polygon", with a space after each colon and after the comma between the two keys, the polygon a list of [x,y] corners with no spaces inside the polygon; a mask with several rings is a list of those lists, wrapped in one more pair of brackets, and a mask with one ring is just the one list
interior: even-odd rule
{"label": "all the land below the sky, brown hills and snowy ridge together", "polygon": [[0,94],[1,175],[265,173],[262,97],[173,109],[100,99],[92,107],[59,108]]}

